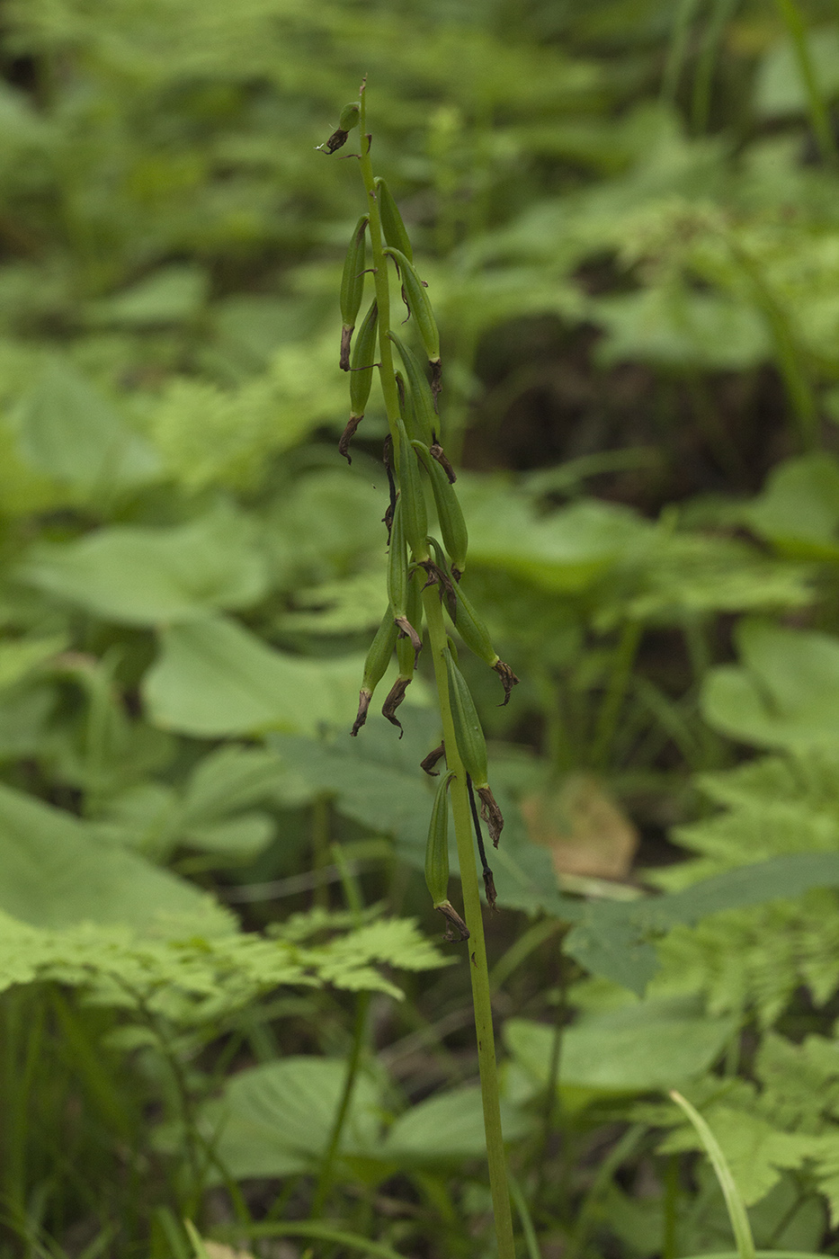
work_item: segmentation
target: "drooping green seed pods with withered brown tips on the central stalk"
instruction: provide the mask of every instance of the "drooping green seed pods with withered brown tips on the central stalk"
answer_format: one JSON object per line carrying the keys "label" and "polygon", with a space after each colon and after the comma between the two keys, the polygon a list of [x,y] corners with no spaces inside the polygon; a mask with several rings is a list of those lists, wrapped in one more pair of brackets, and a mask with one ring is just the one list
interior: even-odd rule
{"label": "drooping green seed pods with withered brown tips on the central stalk", "polygon": [[[346,106],[341,112],[338,131],[321,147],[326,152],[334,152],[340,147],[348,138],[349,131],[358,122],[358,102]],[[369,136],[362,137],[362,142],[369,146]],[[358,715],[351,734],[358,735],[364,725],[373,692],[387,672],[396,651],[399,666],[398,676],[384,700],[382,713],[388,721],[398,726],[399,737],[402,737],[402,724],[396,713],[413,679],[422,648],[422,590],[428,585],[437,587],[441,603],[462,643],[479,660],[499,674],[504,686],[503,704],[509,701],[510,691],[518,682],[518,677],[510,666],[500,660],[493,647],[486,626],[461,585],[466,569],[469,534],[455,490],[456,475],[440,439],[438,394],[442,379],[440,334],[427,286],[417,272],[408,233],[385,181],[375,178],[368,190],[378,209],[377,230],[380,227],[384,238],[378,257],[384,259],[385,266],[389,261],[394,267],[401,285],[402,300],[408,311],[406,322],[411,320],[416,329],[428,368],[423,366],[401,336],[389,327],[379,326],[379,308],[375,297],[358,332],[355,332],[364,298],[364,281],[368,273],[368,235],[372,232],[370,214],[364,214],[358,220],[350,239],[341,277],[343,326],[339,364],[343,370],[350,374],[350,415],[339,442],[340,453],[348,462],[351,461],[350,441],[364,418],[373,370],[382,368],[382,364],[375,361],[377,347],[383,344],[387,346],[388,341],[397,351],[399,361],[399,370],[393,368],[399,414],[389,415],[391,432],[383,452],[391,487],[391,501],[384,515],[388,530],[388,607],[367,655]],[[384,301],[384,297],[382,300]],[[385,340],[383,341],[383,339]],[[392,358],[389,353],[388,358]],[[430,497],[433,501],[440,538],[428,531],[426,486],[431,487]],[[457,752],[467,776],[472,816],[484,865],[484,881],[488,899],[493,904],[495,889],[484,855],[472,787],[480,799],[480,815],[489,828],[494,845],[498,845],[504,818],[489,786],[484,731],[469,686],[460,671],[457,650],[451,638],[448,638],[445,656],[448,704]],[[445,755],[445,748],[441,745],[426,758],[422,768],[427,773],[436,773],[433,767],[442,755]],[[465,938],[469,932],[446,895],[448,883],[447,788],[452,773],[448,771],[441,779],[432,808],[426,855],[426,881],[435,908],[440,909],[448,920],[450,938],[457,938],[457,935]]]}

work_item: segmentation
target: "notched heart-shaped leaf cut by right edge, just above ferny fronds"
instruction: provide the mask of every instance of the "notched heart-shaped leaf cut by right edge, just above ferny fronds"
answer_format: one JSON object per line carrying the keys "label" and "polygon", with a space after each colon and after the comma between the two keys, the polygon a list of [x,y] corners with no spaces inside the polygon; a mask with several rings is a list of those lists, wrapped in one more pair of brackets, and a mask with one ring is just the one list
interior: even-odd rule
{"label": "notched heart-shaped leaf cut by right edge, just above ferny fronds", "polygon": [[705,679],[705,720],[758,747],[839,747],[839,638],[742,622],[737,643],[742,665]]}

